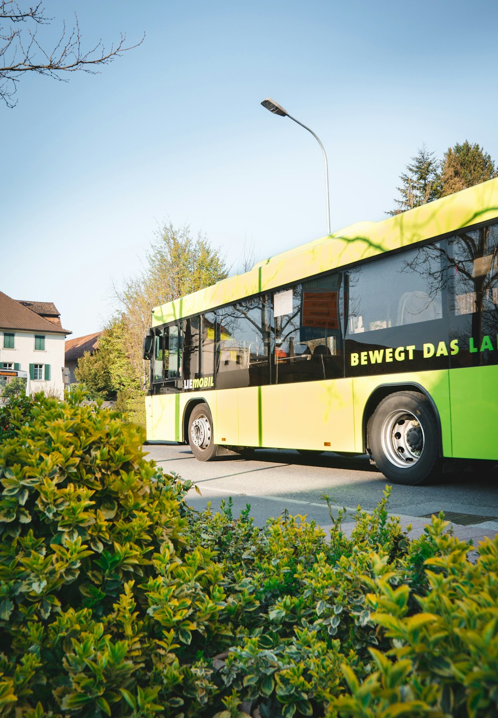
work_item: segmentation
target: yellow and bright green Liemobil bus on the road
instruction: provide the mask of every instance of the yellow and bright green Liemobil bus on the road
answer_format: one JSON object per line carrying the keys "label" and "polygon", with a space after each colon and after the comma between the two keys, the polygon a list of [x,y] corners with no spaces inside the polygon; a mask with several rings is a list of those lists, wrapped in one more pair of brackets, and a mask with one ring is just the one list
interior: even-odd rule
{"label": "yellow and bright green Liemobil bus on the road", "polygon": [[367,452],[422,484],[498,460],[498,179],[152,310],[149,441]]}

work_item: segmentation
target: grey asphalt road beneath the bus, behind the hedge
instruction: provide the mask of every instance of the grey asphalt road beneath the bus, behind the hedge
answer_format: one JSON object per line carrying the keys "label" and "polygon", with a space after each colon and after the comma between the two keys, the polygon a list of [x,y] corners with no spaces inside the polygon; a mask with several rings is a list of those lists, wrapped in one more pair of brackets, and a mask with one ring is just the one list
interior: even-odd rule
{"label": "grey asphalt road beneath the bus, behind the hedge", "polygon": [[[337,516],[338,508],[345,507],[351,517],[358,505],[372,510],[388,483],[364,456],[341,457],[326,452],[304,457],[292,450],[256,449],[249,456],[229,455],[199,462],[185,444],[149,444],[144,450],[165,471],[198,486],[202,495],[191,491],[188,496],[194,508],[204,508],[211,501],[212,508],[218,509],[221,500],[231,497],[234,516],[249,503],[257,526],[287,509],[327,528],[331,517],[323,495],[329,497],[333,516]],[[403,523],[423,527],[427,519],[420,517],[441,510],[476,517],[461,519],[470,526],[455,522],[460,538],[494,536],[498,533],[498,470],[483,464],[470,472],[443,475],[433,485],[392,485],[389,513],[402,516]],[[492,520],[481,523],[479,519],[484,516]]]}

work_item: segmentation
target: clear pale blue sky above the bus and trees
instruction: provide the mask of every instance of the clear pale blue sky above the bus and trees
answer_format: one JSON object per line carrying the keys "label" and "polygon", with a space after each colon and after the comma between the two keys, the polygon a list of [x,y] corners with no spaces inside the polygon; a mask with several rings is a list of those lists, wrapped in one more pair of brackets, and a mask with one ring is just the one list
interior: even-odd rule
{"label": "clear pale blue sky above the bus and trees", "polygon": [[495,0],[47,0],[47,44],[78,13],[83,45],[126,32],[101,74],[29,73],[0,106],[1,291],[55,302],[77,337],[115,308],[161,223],[206,233],[237,270],[381,220],[425,142],[468,139],[498,161]]}

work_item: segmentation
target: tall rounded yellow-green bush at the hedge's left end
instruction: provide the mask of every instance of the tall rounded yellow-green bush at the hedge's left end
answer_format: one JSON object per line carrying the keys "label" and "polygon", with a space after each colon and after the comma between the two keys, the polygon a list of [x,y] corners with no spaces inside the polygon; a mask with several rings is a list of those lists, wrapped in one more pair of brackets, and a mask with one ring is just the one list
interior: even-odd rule
{"label": "tall rounded yellow-green bush at the hedge's left end", "polygon": [[163,706],[183,702],[175,685],[195,683],[197,651],[226,631],[220,572],[208,549],[180,559],[188,482],[144,460],[142,429],[82,398],[9,405],[0,706],[153,715],[162,686]]}

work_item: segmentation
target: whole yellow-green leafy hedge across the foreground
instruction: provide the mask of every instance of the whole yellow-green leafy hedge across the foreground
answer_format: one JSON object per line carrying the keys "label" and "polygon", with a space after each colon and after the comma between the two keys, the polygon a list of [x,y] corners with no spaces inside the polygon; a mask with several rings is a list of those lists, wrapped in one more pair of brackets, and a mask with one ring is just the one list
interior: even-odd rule
{"label": "whole yellow-green leafy hedge across the foreground", "polygon": [[0,410],[0,714],[495,717],[498,543],[197,513],[115,411]]}

